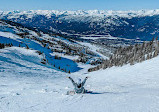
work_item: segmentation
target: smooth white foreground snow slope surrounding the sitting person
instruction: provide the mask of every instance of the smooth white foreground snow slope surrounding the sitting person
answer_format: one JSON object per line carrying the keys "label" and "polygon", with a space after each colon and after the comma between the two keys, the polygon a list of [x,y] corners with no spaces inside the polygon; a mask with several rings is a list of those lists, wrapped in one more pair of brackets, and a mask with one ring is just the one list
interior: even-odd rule
{"label": "smooth white foreground snow slope surrounding the sitting person", "polygon": [[[159,112],[159,57],[92,73],[66,74],[40,64],[34,50],[0,49],[0,112]],[[92,94],[66,95],[67,76]]]}

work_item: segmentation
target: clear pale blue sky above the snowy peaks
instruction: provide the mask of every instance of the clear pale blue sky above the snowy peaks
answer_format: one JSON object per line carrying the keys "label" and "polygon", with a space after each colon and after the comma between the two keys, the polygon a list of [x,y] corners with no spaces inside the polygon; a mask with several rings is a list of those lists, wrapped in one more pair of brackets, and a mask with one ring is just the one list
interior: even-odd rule
{"label": "clear pale blue sky above the snowy peaks", "polygon": [[0,10],[159,9],[159,0],[0,0]]}

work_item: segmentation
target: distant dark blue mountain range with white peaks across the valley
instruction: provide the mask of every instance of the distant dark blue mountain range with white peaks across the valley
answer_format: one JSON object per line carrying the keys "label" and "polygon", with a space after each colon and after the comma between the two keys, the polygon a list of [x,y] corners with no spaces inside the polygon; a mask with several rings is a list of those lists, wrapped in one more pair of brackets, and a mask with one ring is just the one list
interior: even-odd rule
{"label": "distant dark blue mountain range with white peaks across the valley", "polygon": [[67,35],[108,35],[151,40],[159,35],[159,10],[139,11],[0,11],[0,18]]}

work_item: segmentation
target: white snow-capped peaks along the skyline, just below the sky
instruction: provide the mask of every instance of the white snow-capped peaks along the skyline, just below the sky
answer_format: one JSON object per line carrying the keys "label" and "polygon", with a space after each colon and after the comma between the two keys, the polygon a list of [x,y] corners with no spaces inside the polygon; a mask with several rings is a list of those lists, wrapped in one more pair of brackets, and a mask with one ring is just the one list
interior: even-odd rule
{"label": "white snow-capped peaks along the skyline, just below the sky", "polygon": [[10,16],[19,18],[20,15],[26,15],[32,18],[35,15],[54,16],[119,16],[119,17],[137,17],[159,15],[159,9],[156,10],[138,10],[138,11],[113,11],[113,10],[77,10],[77,11],[58,11],[58,10],[29,10],[29,11],[0,11],[0,16]]}

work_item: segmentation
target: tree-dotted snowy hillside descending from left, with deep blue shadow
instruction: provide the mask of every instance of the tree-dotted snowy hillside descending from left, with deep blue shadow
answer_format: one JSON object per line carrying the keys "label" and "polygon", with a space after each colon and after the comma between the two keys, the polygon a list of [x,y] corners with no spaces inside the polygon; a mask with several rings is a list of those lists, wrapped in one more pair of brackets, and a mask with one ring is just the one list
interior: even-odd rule
{"label": "tree-dotted snowy hillside descending from left, with deep blue shadow", "polygon": [[[36,50],[43,57],[38,64],[63,72],[81,70],[83,67],[80,62],[90,66],[89,64],[101,64],[103,59],[108,58],[99,52],[99,47],[90,43],[44,34],[6,20],[0,20],[0,44],[12,44],[16,47]],[[110,52],[106,48],[103,49]]]}

